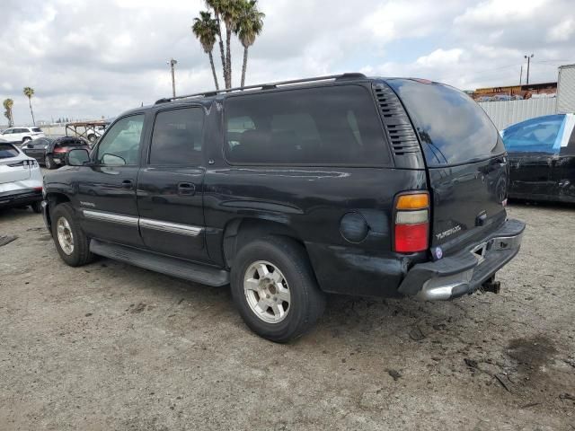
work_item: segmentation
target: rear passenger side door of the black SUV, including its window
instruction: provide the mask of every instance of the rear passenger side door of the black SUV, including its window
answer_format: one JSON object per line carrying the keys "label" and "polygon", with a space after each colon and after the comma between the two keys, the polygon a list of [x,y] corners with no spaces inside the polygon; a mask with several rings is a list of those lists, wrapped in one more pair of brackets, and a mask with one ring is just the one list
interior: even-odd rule
{"label": "rear passenger side door of the black SUV, including its window", "polygon": [[137,180],[140,233],[146,246],[197,261],[209,260],[202,207],[203,125],[199,106],[157,112]]}

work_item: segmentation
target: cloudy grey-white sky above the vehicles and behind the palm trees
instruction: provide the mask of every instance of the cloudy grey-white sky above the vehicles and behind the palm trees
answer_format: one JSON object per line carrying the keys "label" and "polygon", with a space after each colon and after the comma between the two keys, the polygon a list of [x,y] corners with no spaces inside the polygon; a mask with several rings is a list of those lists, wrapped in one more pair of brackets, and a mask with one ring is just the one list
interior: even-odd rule
{"label": "cloudy grey-white sky above the vehicles and behind the palm trees", "polygon": [[[214,87],[190,31],[202,0],[2,0],[0,100],[30,122],[108,118],[176,91]],[[247,84],[360,71],[425,77],[461,89],[555,81],[575,63],[572,0],[260,0],[267,17],[250,51]],[[233,51],[238,84],[241,47]],[[218,57],[215,56],[217,61]],[[525,80],[525,70],[524,70]],[[4,125],[4,117],[0,125]]]}

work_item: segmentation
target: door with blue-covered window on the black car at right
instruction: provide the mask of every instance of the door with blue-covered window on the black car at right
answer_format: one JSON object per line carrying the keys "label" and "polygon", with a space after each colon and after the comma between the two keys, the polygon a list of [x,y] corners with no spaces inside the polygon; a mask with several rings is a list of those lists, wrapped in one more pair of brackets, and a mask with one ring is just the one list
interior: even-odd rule
{"label": "door with blue-covered window on the black car at right", "polygon": [[552,167],[559,154],[564,118],[549,115],[528,119],[503,131],[512,198],[550,198],[555,193]]}

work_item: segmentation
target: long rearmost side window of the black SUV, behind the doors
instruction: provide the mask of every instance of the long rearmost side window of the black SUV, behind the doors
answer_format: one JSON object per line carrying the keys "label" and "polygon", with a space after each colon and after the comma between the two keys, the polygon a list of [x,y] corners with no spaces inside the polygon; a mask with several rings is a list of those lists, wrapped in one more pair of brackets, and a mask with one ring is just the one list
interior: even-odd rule
{"label": "long rearmost side window of the black SUV, behind the doors", "polygon": [[370,92],[340,85],[226,100],[230,163],[381,165],[389,162]]}

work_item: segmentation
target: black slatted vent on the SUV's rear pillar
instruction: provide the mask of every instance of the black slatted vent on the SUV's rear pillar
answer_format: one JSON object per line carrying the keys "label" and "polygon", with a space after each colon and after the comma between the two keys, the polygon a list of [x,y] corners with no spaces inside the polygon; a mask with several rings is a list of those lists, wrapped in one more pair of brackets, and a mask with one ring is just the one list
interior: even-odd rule
{"label": "black slatted vent on the SUV's rear pillar", "polygon": [[394,154],[419,154],[420,143],[413,132],[410,119],[403,110],[402,102],[385,84],[374,85],[374,92]]}

